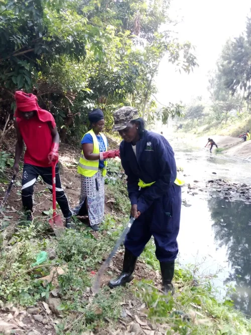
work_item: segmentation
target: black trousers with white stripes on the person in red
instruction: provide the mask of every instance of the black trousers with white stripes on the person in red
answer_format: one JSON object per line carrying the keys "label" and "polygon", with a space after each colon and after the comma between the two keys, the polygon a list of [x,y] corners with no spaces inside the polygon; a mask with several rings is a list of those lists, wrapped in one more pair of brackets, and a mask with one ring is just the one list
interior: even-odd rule
{"label": "black trousers with white stripes on the person in red", "polygon": [[[22,202],[25,210],[32,211],[33,200],[32,195],[34,191],[34,184],[41,176],[46,183],[46,186],[52,192],[52,169],[51,167],[40,167],[31,164],[24,164],[23,178],[22,178]],[[65,218],[72,215],[68,199],[61,186],[58,164],[56,165],[56,200],[62,210]]]}

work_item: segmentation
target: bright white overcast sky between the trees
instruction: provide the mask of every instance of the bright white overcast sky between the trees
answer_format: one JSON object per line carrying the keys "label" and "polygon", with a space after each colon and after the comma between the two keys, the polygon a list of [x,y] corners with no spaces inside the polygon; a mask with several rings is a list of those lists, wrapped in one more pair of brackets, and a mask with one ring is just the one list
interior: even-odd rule
{"label": "bright white overcast sky between the trees", "polygon": [[180,74],[163,59],[156,77],[157,99],[163,103],[189,103],[192,97],[207,98],[207,73],[215,67],[222,46],[229,37],[245,29],[250,0],[173,0],[171,17],[182,21],[175,27],[180,42],[190,41],[196,47],[199,67],[193,73]]}

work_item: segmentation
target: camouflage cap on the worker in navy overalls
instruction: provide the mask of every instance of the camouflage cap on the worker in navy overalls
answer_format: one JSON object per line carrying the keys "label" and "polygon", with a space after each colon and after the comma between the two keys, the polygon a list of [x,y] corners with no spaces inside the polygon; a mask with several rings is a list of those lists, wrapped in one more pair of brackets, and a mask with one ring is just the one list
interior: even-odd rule
{"label": "camouflage cap on the worker in navy overalls", "polygon": [[132,106],[123,106],[113,113],[114,127],[113,132],[127,128],[133,120],[139,119],[138,109]]}

